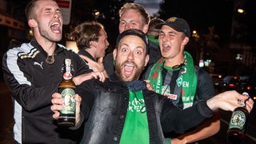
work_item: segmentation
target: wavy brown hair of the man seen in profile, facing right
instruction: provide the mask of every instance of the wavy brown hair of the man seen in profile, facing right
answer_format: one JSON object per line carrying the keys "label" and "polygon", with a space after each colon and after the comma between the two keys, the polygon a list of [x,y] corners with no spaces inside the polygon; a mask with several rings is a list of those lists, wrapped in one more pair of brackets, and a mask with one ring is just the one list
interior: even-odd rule
{"label": "wavy brown hair of the man seen in profile, facing right", "polygon": [[70,38],[77,43],[79,50],[83,50],[90,47],[90,41],[98,42],[100,30],[104,30],[104,26],[99,22],[83,22],[74,28]]}

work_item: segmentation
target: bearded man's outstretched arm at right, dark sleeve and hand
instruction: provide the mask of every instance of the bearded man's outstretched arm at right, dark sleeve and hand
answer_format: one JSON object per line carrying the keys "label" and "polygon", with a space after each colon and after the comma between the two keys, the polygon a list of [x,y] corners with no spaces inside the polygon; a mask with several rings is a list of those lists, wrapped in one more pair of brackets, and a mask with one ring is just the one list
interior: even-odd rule
{"label": "bearded man's outstretched arm at right, dark sleeve and hand", "polygon": [[[248,97],[239,94],[237,91],[226,91],[210,98],[207,101],[198,102],[195,106],[185,110],[175,109],[174,106],[163,109],[162,113],[162,130],[165,132],[182,133],[185,130],[198,126],[205,118],[210,118],[215,110],[233,111],[238,106],[238,99],[246,100]],[[169,103],[170,105],[170,103]],[[254,101],[249,98],[246,101],[246,108],[250,112],[253,108]],[[170,125],[174,123],[174,125]]]}

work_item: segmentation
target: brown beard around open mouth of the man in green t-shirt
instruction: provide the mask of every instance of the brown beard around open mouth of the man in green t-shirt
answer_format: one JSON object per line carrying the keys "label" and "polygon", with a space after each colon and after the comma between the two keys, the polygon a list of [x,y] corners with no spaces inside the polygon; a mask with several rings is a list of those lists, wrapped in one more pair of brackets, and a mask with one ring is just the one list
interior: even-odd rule
{"label": "brown beard around open mouth of the man in green t-shirt", "polygon": [[[142,74],[142,71],[144,70],[144,67],[138,67],[134,62],[133,65],[134,65],[134,70],[137,70],[135,72],[134,75],[131,75],[131,76],[125,76],[125,75],[122,75],[122,68],[124,68],[124,66],[126,65],[126,63],[128,62],[123,62],[122,64],[121,63],[116,63],[115,64],[115,74],[117,74],[118,78],[122,79],[122,81],[124,82],[131,82],[131,81],[134,81],[134,80],[137,80],[141,74]],[[130,79],[130,80],[127,80],[127,79]]]}

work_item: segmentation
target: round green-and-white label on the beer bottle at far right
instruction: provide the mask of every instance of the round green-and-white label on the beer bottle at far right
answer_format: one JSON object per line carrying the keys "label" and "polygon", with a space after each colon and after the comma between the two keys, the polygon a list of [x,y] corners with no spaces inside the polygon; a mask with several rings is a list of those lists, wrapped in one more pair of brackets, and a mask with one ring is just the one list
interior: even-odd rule
{"label": "round green-and-white label on the beer bottle at far right", "polygon": [[245,130],[245,123],[246,123],[246,114],[244,114],[241,110],[234,111],[230,119],[230,126],[231,128],[237,128],[239,130]]}

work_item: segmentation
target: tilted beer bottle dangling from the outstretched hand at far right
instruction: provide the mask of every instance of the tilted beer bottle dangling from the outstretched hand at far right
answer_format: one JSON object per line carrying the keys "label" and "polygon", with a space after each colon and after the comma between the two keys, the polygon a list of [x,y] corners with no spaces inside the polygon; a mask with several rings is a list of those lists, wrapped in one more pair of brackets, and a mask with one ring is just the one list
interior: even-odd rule
{"label": "tilted beer bottle dangling from the outstretched hand at far right", "polygon": [[[249,97],[249,94],[244,92],[243,95]],[[248,122],[249,112],[246,110],[246,101],[238,100],[238,107],[234,109],[230,125],[227,130],[227,141],[230,143],[241,143],[245,137],[246,124]]]}

